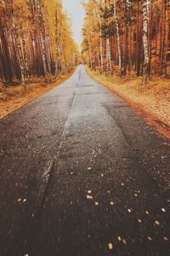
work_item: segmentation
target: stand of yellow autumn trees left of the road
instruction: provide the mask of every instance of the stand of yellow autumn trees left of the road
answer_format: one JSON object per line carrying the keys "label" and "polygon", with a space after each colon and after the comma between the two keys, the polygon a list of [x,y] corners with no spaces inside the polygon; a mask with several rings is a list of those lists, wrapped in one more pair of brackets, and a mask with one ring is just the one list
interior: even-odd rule
{"label": "stand of yellow autumn trees left of the road", "polygon": [[55,77],[77,62],[70,21],[61,0],[0,1],[0,79]]}

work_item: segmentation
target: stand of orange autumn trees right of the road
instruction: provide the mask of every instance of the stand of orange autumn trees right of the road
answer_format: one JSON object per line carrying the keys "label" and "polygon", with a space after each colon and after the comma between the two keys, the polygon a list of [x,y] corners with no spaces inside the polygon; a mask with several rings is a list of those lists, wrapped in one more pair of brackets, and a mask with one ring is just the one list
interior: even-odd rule
{"label": "stand of orange autumn trees right of the road", "polygon": [[170,73],[169,0],[88,0],[82,54],[101,73]]}

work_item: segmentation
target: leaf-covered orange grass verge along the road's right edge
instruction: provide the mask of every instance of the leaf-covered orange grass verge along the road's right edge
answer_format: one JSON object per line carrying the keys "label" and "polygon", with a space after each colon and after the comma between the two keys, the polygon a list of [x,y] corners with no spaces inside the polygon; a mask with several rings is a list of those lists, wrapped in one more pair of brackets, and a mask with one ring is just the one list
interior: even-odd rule
{"label": "leaf-covered orange grass verge along the road's right edge", "polygon": [[141,85],[141,78],[133,74],[120,79],[117,75],[106,77],[86,68],[96,82],[122,97],[150,125],[170,138],[170,79],[150,78],[147,84]]}

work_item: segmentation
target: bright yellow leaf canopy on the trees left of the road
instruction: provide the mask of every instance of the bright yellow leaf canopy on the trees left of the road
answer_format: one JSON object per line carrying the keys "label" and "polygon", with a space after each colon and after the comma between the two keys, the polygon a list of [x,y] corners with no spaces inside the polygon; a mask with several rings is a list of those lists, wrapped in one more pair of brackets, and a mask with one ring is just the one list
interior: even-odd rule
{"label": "bright yellow leaf canopy on the trees left of the road", "polygon": [[26,48],[31,47],[31,34],[36,32],[47,44],[47,55],[51,55],[54,62],[62,62],[63,67],[70,67],[79,53],[73,39],[71,22],[63,10],[62,2],[14,0],[13,7],[12,27],[17,29],[18,36],[24,37]]}

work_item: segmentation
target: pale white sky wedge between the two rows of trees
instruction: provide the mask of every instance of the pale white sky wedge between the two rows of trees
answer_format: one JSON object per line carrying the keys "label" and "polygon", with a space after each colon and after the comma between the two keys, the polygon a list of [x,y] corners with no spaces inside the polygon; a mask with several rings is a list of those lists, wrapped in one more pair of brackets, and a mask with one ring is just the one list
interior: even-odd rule
{"label": "pale white sky wedge between the two rows of trees", "polygon": [[82,25],[84,19],[84,11],[82,9],[81,0],[62,0],[62,3],[65,11],[71,18],[75,42],[80,46],[82,41]]}

